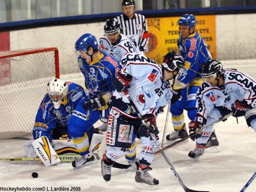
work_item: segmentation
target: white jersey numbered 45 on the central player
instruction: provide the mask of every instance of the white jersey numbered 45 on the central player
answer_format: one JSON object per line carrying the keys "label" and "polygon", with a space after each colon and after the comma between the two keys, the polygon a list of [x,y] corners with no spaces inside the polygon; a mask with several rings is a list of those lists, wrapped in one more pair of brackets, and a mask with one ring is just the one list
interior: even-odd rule
{"label": "white jersey numbered 45 on the central player", "polygon": [[[156,109],[171,101],[172,87],[167,82],[164,86],[162,68],[155,61],[145,55],[126,53],[120,66],[125,73],[132,76],[128,93],[141,115],[154,113]],[[123,92],[115,91],[113,96],[129,103]]]}

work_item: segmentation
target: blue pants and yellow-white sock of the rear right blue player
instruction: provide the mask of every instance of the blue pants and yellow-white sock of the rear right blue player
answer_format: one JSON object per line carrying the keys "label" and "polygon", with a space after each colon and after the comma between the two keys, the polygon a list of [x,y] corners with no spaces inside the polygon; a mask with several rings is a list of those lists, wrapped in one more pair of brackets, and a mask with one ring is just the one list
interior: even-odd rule
{"label": "blue pants and yellow-white sock of the rear right blue player", "polygon": [[172,113],[172,125],[175,131],[180,131],[185,126],[183,110],[187,111],[191,121],[196,117],[196,93],[198,86],[188,86],[181,89],[180,99],[171,105],[170,112]]}

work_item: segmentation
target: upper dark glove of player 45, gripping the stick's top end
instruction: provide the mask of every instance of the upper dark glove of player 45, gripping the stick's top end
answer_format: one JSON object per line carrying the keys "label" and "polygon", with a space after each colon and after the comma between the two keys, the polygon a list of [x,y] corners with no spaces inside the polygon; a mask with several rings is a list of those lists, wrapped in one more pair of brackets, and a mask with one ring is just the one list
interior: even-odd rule
{"label": "upper dark glove of player 45, gripping the stick's top end", "polygon": [[116,88],[117,92],[122,92],[124,89],[128,89],[132,80],[132,76],[125,73],[122,69],[117,69],[116,78],[113,79],[113,86]]}

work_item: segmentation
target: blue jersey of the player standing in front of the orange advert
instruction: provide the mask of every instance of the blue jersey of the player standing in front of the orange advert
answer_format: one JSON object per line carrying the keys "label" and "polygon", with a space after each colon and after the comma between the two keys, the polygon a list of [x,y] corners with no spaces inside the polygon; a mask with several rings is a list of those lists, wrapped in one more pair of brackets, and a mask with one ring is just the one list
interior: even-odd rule
{"label": "blue jersey of the player standing in front of the orange advert", "polygon": [[[180,55],[182,55],[185,60],[185,69],[178,77],[178,81],[183,84],[189,84],[195,77],[202,78],[201,70],[203,64],[212,59],[212,55],[201,35],[199,35],[198,32],[195,32],[189,35],[186,39],[183,39],[180,36],[177,45],[179,47]],[[195,85],[199,86],[200,83]]]}

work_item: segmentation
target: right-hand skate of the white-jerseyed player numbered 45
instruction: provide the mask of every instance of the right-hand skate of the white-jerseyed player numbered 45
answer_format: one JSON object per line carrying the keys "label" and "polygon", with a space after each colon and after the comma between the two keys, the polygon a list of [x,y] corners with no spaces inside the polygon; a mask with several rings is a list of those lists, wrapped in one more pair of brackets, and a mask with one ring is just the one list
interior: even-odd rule
{"label": "right-hand skate of the white-jerseyed player numbered 45", "polygon": [[147,167],[141,169],[138,167],[135,175],[135,181],[137,182],[136,188],[139,189],[158,189],[159,180],[153,178],[148,171],[152,168]]}

